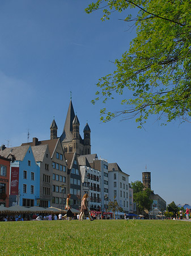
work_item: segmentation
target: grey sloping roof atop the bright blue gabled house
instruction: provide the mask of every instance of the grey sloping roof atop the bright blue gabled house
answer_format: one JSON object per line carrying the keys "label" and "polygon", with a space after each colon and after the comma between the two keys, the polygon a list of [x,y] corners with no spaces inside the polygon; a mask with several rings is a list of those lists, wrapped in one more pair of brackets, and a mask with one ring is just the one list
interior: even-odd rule
{"label": "grey sloping roof atop the bright blue gabled house", "polygon": [[30,145],[5,148],[5,150],[0,150],[0,155],[4,158],[12,159],[14,157],[15,160],[23,161],[29,147]]}

